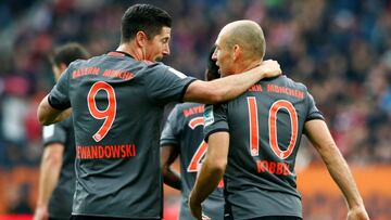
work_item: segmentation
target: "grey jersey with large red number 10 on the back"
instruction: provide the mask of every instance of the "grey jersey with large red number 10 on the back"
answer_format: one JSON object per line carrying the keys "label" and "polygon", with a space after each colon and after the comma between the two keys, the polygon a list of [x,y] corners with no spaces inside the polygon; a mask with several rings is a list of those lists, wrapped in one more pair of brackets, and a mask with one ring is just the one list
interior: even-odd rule
{"label": "grey jersey with large red number 10 on the back", "polygon": [[209,108],[206,135],[218,130],[230,134],[224,177],[226,211],[234,219],[302,217],[295,157],[304,122],[323,119],[306,88],[280,76],[262,80],[238,99]]}

